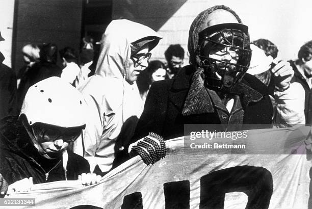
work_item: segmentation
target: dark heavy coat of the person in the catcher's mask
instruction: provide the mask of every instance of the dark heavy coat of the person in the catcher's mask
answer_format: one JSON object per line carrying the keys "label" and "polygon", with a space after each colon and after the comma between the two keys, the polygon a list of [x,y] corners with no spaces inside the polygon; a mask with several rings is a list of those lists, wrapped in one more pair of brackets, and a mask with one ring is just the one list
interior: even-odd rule
{"label": "dark heavy coat of the person in the catcher's mask", "polygon": [[[181,114],[193,72],[191,66],[186,66],[179,71],[175,79],[152,84],[132,142],[148,135],[149,132],[159,134],[165,140],[184,136],[184,124],[222,123],[216,111],[189,116]],[[267,87],[250,74],[246,74],[242,82],[263,95],[260,101],[250,102],[247,107],[243,107],[243,124],[264,124],[258,128],[270,128],[273,107]]]}

